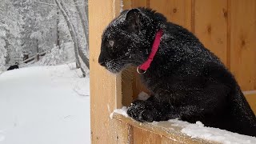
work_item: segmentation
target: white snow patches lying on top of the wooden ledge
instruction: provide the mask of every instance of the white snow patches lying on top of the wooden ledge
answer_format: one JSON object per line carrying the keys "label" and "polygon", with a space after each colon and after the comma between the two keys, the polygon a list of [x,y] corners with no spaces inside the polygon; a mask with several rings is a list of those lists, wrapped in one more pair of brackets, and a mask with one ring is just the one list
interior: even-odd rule
{"label": "white snow patches lying on top of the wooden ledge", "polygon": [[[128,117],[127,108],[124,106],[122,109],[114,110],[114,113],[122,114]],[[113,114],[110,115],[110,118]],[[214,142],[221,142],[224,144],[255,144],[256,138],[232,133],[227,130],[221,130],[213,127],[206,127],[202,122],[189,123],[180,121],[178,119],[170,119],[171,126],[181,127],[181,132],[190,136],[191,138],[202,138]],[[152,125],[158,125],[158,122],[151,122]]]}

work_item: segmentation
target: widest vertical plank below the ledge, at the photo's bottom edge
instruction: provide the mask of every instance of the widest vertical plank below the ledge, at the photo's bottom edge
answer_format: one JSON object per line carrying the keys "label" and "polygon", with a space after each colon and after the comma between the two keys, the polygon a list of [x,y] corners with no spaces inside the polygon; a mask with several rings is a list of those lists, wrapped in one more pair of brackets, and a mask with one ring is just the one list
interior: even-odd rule
{"label": "widest vertical plank below the ledge, at the photo's bottom edge", "polygon": [[136,126],[134,129],[134,144],[156,144],[161,143],[161,136],[150,131],[140,129]]}

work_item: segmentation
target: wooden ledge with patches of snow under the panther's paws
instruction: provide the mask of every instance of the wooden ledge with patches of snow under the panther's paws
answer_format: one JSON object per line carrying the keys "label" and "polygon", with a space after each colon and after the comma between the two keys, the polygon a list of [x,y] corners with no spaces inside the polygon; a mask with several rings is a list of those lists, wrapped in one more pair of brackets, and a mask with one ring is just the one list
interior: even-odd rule
{"label": "wooden ledge with patches of snow under the panther's paws", "polygon": [[114,110],[110,118],[136,126],[142,130],[164,136],[180,143],[224,143],[224,144],[255,144],[256,138],[232,133],[227,130],[203,126],[202,122],[195,124],[171,119],[168,122],[137,122],[126,114],[126,107]]}

